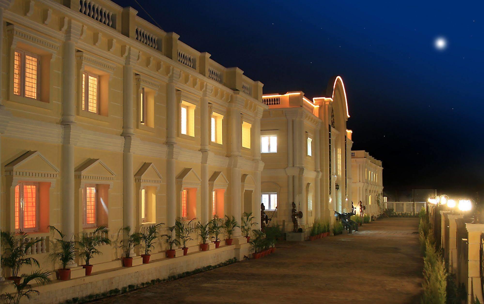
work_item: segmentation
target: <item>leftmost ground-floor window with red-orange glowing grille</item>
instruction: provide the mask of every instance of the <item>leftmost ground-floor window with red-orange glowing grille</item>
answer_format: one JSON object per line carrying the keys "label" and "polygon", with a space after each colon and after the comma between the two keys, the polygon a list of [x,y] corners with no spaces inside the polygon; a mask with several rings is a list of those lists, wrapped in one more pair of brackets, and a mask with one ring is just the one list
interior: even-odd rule
{"label": "leftmost ground-floor window with red-orange glowing grille", "polygon": [[39,184],[19,183],[15,186],[15,229],[36,231],[38,229]]}

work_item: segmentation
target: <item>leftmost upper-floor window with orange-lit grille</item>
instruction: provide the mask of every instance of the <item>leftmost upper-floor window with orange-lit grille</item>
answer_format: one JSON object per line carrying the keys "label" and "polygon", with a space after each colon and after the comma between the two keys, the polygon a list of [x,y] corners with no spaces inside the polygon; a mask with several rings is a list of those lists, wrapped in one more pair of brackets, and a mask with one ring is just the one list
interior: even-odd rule
{"label": "leftmost upper-floor window with orange-lit grille", "polygon": [[14,94],[32,99],[39,97],[40,60],[22,50],[14,52]]}

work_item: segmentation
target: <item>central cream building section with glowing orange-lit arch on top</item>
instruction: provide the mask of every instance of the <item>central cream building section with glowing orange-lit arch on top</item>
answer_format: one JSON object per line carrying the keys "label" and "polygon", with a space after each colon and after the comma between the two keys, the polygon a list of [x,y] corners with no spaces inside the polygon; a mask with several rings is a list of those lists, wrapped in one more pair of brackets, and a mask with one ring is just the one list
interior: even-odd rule
{"label": "central cream building section with glowing orange-lit arch on top", "polygon": [[[267,94],[261,121],[262,203],[272,220],[291,231],[291,203],[303,217],[332,221],[334,211],[351,211],[348,106],[341,77],[329,81],[327,97],[306,98],[301,91]],[[277,206],[277,210],[275,210]]]}

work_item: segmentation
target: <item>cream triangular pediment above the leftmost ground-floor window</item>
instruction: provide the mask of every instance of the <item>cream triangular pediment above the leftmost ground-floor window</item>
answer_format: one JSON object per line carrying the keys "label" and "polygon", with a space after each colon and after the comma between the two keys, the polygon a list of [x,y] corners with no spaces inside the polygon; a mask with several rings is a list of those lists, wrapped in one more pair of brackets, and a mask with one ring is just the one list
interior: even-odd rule
{"label": "cream triangular pediment above the leftmost ground-floor window", "polygon": [[5,172],[12,175],[29,173],[29,176],[58,177],[59,169],[39,151],[27,151],[5,165]]}

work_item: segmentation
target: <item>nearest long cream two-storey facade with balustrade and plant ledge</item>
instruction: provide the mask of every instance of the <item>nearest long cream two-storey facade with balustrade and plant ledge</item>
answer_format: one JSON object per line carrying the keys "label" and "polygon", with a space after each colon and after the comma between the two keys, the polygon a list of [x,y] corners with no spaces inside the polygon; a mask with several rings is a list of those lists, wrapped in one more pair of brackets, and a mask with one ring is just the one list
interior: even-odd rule
{"label": "nearest long cream two-storey facade with balustrade and plant ledge", "polygon": [[[48,225],[67,238],[107,225],[116,240],[125,226],[259,212],[260,120],[268,108],[262,83],[109,0],[0,6],[0,228],[40,238],[29,254],[42,269],[59,268],[47,258]],[[192,257],[167,261],[166,245],[157,242],[151,268],[141,270],[120,268],[121,248],[103,245],[91,262],[102,274],[84,281],[84,261],[76,258],[70,285],[39,287],[37,301],[248,254],[240,229],[234,245],[208,252],[192,237]],[[73,294],[70,287],[81,284],[91,285]]]}

